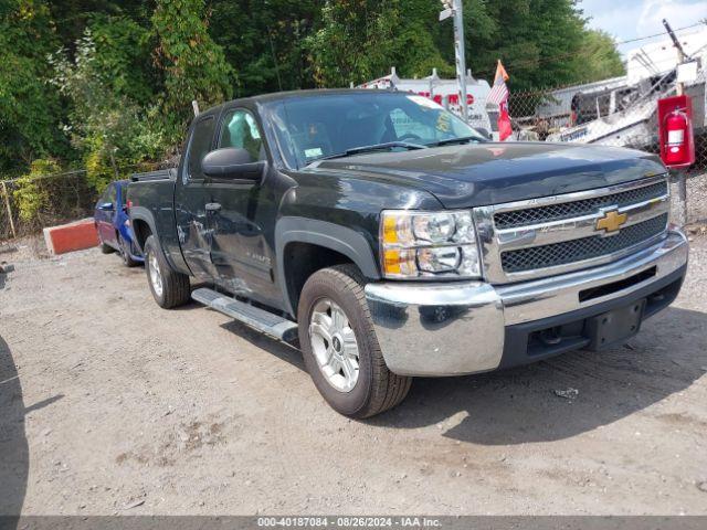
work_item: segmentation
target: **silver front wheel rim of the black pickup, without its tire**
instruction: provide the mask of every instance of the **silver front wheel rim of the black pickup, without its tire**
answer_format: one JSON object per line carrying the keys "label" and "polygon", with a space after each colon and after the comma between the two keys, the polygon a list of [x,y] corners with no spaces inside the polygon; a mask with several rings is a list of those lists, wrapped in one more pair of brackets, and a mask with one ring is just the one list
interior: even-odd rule
{"label": "silver front wheel rim of the black pickup, without its tire", "polygon": [[309,341],[327,382],[339,392],[354,390],[359,372],[358,343],[349,318],[333,300],[323,298],[315,304]]}

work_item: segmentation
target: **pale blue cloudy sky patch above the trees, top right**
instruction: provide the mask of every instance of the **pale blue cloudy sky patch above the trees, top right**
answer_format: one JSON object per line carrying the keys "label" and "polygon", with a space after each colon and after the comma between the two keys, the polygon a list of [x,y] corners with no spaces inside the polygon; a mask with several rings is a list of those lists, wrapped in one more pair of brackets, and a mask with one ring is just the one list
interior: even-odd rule
{"label": "pale blue cloudy sky patch above the trees, top right", "polygon": [[[707,0],[580,0],[578,3],[584,15],[591,18],[590,28],[604,30],[618,41],[665,31],[663,19],[667,19],[674,30],[707,19]],[[625,54],[656,40],[659,38],[622,44],[619,50]]]}

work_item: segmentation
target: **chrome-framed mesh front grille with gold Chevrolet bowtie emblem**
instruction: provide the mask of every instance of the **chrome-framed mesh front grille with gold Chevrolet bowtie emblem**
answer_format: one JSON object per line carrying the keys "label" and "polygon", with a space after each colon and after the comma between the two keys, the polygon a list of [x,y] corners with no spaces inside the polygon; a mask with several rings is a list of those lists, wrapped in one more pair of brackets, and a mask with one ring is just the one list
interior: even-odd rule
{"label": "chrome-framed mesh front grille with gold Chevrolet bowtie emblem", "polygon": [[666,176],[477,208],[485,277],[504,284],[609,263],[664,237],[668,209]]}

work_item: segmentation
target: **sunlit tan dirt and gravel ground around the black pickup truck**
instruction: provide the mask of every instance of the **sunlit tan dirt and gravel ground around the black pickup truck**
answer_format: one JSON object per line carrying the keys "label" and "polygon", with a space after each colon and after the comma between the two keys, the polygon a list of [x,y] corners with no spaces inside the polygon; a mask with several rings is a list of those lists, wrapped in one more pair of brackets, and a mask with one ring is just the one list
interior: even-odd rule
{"label": "sunlit tan dirt and gravel ground around the black pickup truck", "polygon": [[0,513],[707,515],[707,237],[692,245],[680,297],[627,346],[418,379],[365,422],[297,350],[160,309],[143,268],[6,248]]}

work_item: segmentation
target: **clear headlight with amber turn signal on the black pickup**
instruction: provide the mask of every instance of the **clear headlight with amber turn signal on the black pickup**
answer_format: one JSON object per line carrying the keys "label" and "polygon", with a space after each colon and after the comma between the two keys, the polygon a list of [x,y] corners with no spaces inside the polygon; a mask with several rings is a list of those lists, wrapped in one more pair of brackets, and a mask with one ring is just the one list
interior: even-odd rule
{"label": "clear headlight with amber turn signal on the black pickup", "polygon": [[383,275],[388,278],[481,276],[471,211],[387,210],[380,232]]}

